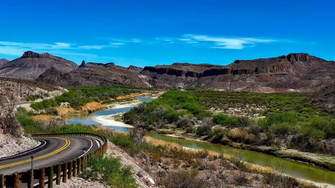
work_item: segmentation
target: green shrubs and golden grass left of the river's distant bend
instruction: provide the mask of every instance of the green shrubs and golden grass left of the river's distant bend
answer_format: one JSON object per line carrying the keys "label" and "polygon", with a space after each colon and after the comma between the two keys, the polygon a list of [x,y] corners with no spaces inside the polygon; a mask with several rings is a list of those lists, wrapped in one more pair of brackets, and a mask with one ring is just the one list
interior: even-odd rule
{"label": "green shrubs and golden grass left of the river's distant bend", "polygon": [[[46,99],[41,102],[32,103],[30,107],[36,111],[43,111],[49,115],[70,115],[80,113],[91,113],[95,110],[106,109],[110,104],[116,102],[118,97],[132,93],[142,93],[146,88],[136,87],[76,87],[68,92],[56,96],[55,99]],[[152,90],[152,89],[151,89]],[[35,99],[40,96],[29,96]]]}

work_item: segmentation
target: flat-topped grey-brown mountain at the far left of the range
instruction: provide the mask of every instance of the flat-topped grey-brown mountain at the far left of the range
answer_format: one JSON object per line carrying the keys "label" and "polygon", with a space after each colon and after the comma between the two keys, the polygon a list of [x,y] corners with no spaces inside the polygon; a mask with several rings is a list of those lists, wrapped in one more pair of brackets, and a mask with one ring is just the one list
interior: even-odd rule
{"label": "flat-topped grey-brown mountain at the far left of the range", "polygon": [[36,78],[47,69],[54,67],[63,73],[78,68],[78,65],[64,58],[48,53],[25,52],[20,58],[7,62],[0,68],[0,75]]}

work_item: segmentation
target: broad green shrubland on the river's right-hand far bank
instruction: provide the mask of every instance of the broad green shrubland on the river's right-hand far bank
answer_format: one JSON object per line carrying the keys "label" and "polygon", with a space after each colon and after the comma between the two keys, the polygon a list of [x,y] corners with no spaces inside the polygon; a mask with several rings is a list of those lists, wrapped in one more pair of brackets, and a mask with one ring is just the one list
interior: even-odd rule
{"label": "broad green shrubland on the river's right-hand far bank", "polygon": [[[314,107],[308,97],[309,94],[292,93],[168,91],[159,99],[126,112],[123,120],[158,133],[274,155],[289,148],[332,157],[335,155],[334,117]],[[240,114],[224,113],[231,109],[238,109]],[[331,162],[324,164],[294,154],[281,157],[314,162],[335,170]]]}

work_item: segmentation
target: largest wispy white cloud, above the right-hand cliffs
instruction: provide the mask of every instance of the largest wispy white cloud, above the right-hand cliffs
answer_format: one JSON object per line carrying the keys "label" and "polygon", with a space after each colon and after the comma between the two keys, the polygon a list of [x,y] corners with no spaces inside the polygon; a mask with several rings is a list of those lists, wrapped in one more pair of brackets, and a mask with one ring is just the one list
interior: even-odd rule
{"label": "largest wispy white cloud, above the right-hand cliffs", "polygon": [[[270,43],[278,42],[275,39],[262,39],[262,38],[250,38],[250,37],[211,37],[207,35],[194,35],[184,34],[182,35],[182,41],[187,43],[209,43],[209,48],[219,49],[238,49],[242,50],[245,47],[256,46],[256,43]],[[196,40],[196,41],[192,41]]]}

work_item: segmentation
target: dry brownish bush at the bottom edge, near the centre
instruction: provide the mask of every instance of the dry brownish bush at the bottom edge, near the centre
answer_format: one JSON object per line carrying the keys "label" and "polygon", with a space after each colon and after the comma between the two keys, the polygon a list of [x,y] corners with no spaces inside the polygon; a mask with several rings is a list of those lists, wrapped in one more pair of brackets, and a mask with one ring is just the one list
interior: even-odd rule
{"label": "dry brownish bush at the bottom edge, near the centre", "polygon": [[161,183],[166,188],[203,188],[207,184],[195,173],[185,170],[169,171]]}

